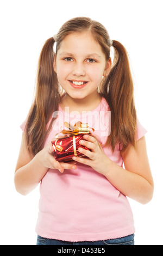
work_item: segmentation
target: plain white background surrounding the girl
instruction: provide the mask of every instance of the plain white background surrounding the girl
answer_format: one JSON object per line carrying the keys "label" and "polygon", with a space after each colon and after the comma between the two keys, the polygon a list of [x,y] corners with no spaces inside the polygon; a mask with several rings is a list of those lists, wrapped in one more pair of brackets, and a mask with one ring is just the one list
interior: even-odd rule
{"label": "plain white background surrounding the girl", "polygon": [[162,237],[162,1],[161,0],[5,0],[1,23],[1,245],[35,245],[39,187],[24,197],[15,191],[14,172],[22,131],[32,103],[37,60],[44,42],[61,25],[88,16],[120,41],[131,59],[135,104],[146,135],[155,182],[152,202],[129,199],[135,219],[136,245],[163,245]]}

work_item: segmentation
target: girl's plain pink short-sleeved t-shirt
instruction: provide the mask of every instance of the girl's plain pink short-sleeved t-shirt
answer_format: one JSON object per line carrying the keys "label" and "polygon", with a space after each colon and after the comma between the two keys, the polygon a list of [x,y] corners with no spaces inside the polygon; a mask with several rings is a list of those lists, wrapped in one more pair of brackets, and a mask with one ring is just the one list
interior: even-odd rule
{"label": "girl's plain pink short-sleeved t-shirt", "polygon": [[[68,110],[68,109],[67,109]],[[55,113],[54,113],[55,115]],[[93,135],[102,144],[110,134],[110,112],[103,98],[96,109],[90,112],[67,113],[59,106],[58,117],[45,142],[51,141],[61,131],[65,121],[74,125],[77,121],[88,123],[95,129]],[[22,124],[22,130],[24,124]],[[137,122],[137,139],[146,130]],[[121,145],[114,154],[104,147],[105,154],[121,167]],[[48,169],[40,184],[39,216],[36,233],[49,239],[64,241],[97,241],[115,239],[135,233],[133,213],[128,199],[90,166],[77,163],[77,169]]]}

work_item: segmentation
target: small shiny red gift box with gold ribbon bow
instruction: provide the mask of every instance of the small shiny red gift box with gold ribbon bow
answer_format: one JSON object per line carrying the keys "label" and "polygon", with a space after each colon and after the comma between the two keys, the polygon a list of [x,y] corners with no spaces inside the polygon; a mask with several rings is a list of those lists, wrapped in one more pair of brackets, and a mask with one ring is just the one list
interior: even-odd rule
{"label": "small shiny red gift box with gold ribbon bow", "polygon": [[[80,139],[85,141],[83,138],[85,133],[91,134],[89,125],[77,122],[72,126],[70,123],[65,122],[65,126],[68,127],[69,130],[62,130],[62,135],[59,135],[60,133],[58,133],[55,135],[55,141],[52,141],[54,148],[53,155],[55,159],[59,162],[67,162],[71,161],[73,156],[86,157],[78,151],[78,148],[81,147],[90,150],[79,144]],[[94,131],[94,129],[92,130]]]}

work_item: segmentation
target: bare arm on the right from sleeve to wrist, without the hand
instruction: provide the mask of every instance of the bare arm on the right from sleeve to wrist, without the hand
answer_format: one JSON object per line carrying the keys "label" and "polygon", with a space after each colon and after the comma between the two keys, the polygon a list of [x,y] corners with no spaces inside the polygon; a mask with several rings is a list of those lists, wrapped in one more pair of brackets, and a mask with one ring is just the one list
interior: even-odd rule
{"label": "bare arm on the right from sleeve to wrist, without the hand", "polygon": [[126,196],[142,204],[148,203],[153,197],[154,184],[145,137],[136,142],[136,150],[129,146],[122,159],[125,169],[111,161],[106,178]]}

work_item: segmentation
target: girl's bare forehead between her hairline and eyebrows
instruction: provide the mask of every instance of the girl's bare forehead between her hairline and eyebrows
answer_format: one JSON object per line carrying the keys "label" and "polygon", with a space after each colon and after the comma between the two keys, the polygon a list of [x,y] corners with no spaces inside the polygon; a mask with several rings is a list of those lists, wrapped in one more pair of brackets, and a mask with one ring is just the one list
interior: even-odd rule
{"label": "girl's bare forehead between her hairline and eyebrows", "polygon": [[61,41],[57,54],[64,53],[72,53],[74,55],[97,54],[99,57],[105,57],[101,46],[89,31],[67,35]]}

